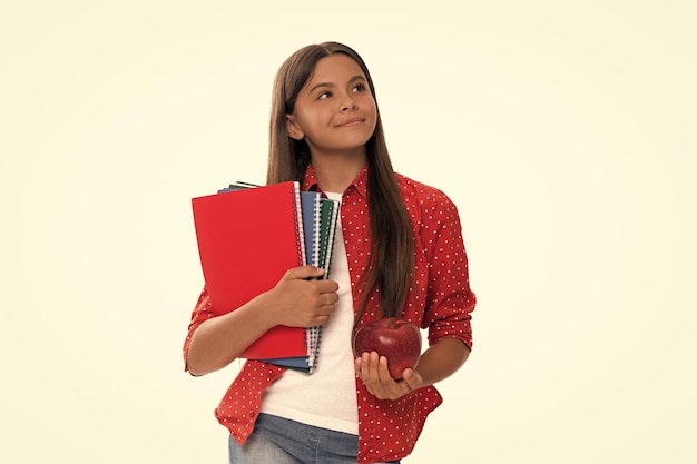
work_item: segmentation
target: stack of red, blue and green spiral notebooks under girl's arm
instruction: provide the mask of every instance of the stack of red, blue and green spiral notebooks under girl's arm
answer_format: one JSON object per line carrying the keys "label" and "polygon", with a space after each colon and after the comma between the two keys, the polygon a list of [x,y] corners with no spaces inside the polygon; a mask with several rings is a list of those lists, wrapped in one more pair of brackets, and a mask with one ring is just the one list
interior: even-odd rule
{"label": "stack of red, blue and green spiral notebooks under girl's arm", "polygon": [[[192,206],[206,289],[218,313],[272,289],[292,267],[311,264],[328,277],[338,201],[301,191],[294,181],[235,182],[193,198]],[[321,326],[276,326],[240,357],[312,373],[321,335]]]}

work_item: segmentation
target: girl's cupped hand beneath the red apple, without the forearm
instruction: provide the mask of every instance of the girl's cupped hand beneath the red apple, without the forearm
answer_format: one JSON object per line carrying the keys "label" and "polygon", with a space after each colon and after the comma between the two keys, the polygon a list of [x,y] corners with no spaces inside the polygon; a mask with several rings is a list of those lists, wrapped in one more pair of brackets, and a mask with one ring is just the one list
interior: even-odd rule
{"label": "girl's cupped hand beneath the red apple, without the forearm", "polygon": [[404,369],[403,378],[395,381],[387,369],[387,358],[377,353],[363,353],[354,362],[356,376],[377,399],[396,399],[423,386],[421,375],[414,369]]}

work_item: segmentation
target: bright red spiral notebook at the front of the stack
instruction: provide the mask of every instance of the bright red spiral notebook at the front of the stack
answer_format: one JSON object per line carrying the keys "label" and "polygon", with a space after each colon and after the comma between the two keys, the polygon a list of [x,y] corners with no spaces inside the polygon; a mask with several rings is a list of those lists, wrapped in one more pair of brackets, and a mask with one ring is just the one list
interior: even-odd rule
{"label": "bright red spiral notebook at the front of the stack", "polygon": [[[305,264],[298,182],[192,199],[206,289],[216,314],[235,310]],[[306,356],[305,328],[276,326],[240,357]]]}

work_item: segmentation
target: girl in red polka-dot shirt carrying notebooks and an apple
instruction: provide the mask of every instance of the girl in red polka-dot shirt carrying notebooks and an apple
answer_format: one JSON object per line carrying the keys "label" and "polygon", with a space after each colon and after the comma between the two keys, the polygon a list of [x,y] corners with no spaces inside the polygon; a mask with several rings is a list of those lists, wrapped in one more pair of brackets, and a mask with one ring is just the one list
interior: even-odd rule
{"label": "girl in red polka-dot shirt carrying notebooks and an apple", "polygon": [[[267,182],[297,180],[341,200],[331,279],[289,269],[234,312],[204,288],[184,346],[203,375],[233,362],[271,327],[323,325],[311,375],[248,359],[218,407],[234,464],[397,462],[442,402],[433,384],[467,361],[472,338],[460,219],[440,190],[392,170],[375,89],[361,57],[326,42],[305,47],[274,82]],[[394,381],[390,359],[354,359],[353,330],[399,316],[428,328],[415,369]]]}

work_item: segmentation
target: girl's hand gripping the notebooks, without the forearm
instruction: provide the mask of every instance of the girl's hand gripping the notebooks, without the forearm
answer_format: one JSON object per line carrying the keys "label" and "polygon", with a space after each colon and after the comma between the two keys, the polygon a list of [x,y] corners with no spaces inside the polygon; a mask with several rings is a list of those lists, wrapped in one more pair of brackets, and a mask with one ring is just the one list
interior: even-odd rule
{"label": "girl's hand gripping the notebooks, without the forearm", "polygon": [[276,286],[264,295],[265,314],[272,325],[313,327],[326,324],[338,300],[334,280],[311,280],[324,274],[314,266],[288,269]]}

